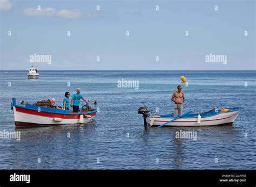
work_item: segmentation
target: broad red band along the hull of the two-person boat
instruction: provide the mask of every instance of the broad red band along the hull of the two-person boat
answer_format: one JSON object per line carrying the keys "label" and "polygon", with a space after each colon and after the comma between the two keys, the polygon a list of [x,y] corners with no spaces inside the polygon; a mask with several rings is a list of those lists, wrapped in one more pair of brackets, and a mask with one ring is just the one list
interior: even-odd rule
{"label": "broad red band along the hull of the two-person boat", "polygon": [[[17,112],[22,113],[28,113],[36,116],[43,116],[43,117],[49,117],[49,118],[63,118],[63,119],[79,119],[80,115],[67,115],[67,114],[57,114],[57,113],[49,113],[49,112],[38,112],[35,110],[29,110],[29,109],[22,109],[19,107],[16,107]],[[86,114],[84,114],[85,116]],[[95,113],[90,113],[90,116],[95,116]]]}

